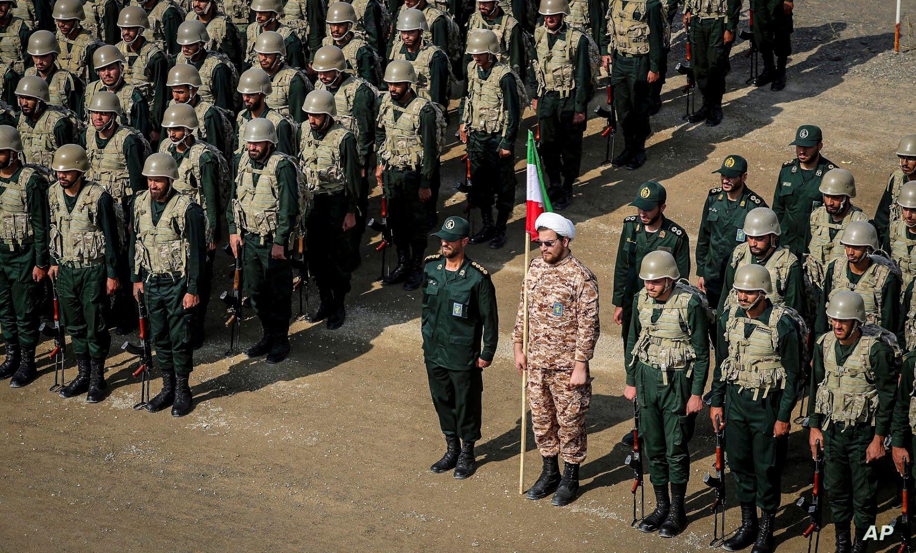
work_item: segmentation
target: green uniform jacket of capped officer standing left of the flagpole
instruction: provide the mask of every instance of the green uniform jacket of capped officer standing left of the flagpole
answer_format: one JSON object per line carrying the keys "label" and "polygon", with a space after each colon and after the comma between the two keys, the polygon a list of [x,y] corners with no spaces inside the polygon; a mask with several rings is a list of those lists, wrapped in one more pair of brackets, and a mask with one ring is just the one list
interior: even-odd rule
{"label": "green uniform jacket of capped officer standing left of the flagpole", "polygon": [[489,273],[466,257],[458,271],[446,271],[445,258],[437,254],[426,257],[423,276],[421,328],[426,362],[470,370],[477,357],[492,361],[499,320]]}

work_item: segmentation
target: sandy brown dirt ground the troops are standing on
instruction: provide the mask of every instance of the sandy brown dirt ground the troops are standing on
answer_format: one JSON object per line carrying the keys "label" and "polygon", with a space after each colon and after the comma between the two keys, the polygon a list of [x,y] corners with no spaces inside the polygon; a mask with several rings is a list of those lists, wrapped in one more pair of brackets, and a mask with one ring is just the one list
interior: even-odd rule
{"label": "sandy brown dirt ground the troops are standing on", "polygon": [[[512,368],[510,333],[526,244],[522,133],[518,206],[507,246],[470,251],[493,273],[502,318],[499,350],[484,377],[480,468],[471,479],[458,482],[448,473],[428,471],[442,453],[442,438],[422,364],[420,293],[382,289],[374,282],[379,259],[367,245],[344,327],[331,332],[322,324],[293,324],[293,353],[285,363],[224,358],[227,336],[214,302],[208,344],[196,356],[191,379],[196,408],[183,419],[131,409],[139,384],[130,376],[135,360],[116,349],[119,337],[113,349],[120,355],[110,361],[112,390],[104,403],[87,405],[50,394],[53,371],[45,357],[33,385],[0,386],[0,549],[633,553],[707,548],[712,494],[702,478],[712,463],[713,440],[704,415],[692,441],[690,526],[668,541],[629,526],[632,471],[623,464],[628,451],[618,441],[631,427],[631,409],[621,397],[622,347],[610,303],[618,233],[621,220],[632,213],[627,204],[635,190],[654,179],[668,188],[666,214],[695,241],[703,198],[716,186],[710,172],[727,154],[747,157],[749,186],[769,200],[780,164],[793,156],[787,144],[794,129],[808,122],[823,128],[823,154],[856,175],[855,203],[874,212],[896,162],[897,141],[912,132],[916,62],[912,54],[889,52],[890,3],[853,0],[843,3],[840,13],[828,9],[831,5],[823,0],[797,5],[795,54],[789,85],[780,93],[744,84],[747,45],[736,46],[725,122],[717,128],[682,122],[684,80],[671,78],[664,107],[652,121],[649,163],[638,171],[599,166],[605,156],[598,135],[603,121],[590,120],[583,175],[573,207],[564,215],[576,223],[575,255],[594,270],[604,292],[604,335],[592,363],[589,457],[582,468],[582,494],[573,505],[555,508],[549,500],[531,502],[518,495],[520,384]],[[679,32],[672,73],[682,57]],[[599,90],[596,101],[603,94]],[[525,129],[533,125],[527,115]],[[453,146],[444,155],[443,215],[463,211],[463,195],[453,192],[463,170],[457,160],[462,152]],[[366,244],[375,241],[366,237]],[[431,241],[430,251],[434,248]],[[228,264],[227,258],[218,259],[221,266]],[[227,285],[226,271],[219,272],[214,292]],[[314,287],[312,294],[317,296]],[[255,320],[243,328],[244,344],[256,340]],[[49,348],[46,343],[40,351]],[[157,378],[154,393],[158,386]],[[802,513],[793,505],[808,489],[805,441],[796,428],[777,519],[780,551],[802,551],[807,545],[800,536]],[[526,487],[540,470],[530,433],[528,448]],[[729,494],[731,484],[729,476]],[[888,489],[881,497],[879,523],[892,516],[891,495]],[[729,506],[732,530],[738,513],[731,495]],[[832,550],[832,529],[823,534],[823,550]]]}

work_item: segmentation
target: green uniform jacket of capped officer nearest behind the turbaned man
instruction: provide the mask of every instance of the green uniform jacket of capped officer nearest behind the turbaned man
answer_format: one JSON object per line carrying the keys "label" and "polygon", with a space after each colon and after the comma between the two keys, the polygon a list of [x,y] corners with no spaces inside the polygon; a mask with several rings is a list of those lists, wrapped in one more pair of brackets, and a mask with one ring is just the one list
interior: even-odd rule
{"label": "green uniform jacket of capped officer nearest behind the turbaned man", "polygon": [[683,278],[690,275],[690,238],[687,232],[674,221],[661,216],[661,226],[656,232],[647,232],[637,215],[624,218],[617,245],[617,259],[614,262],[614,295],[611,303],[615,307],[627,307],[634,296],[642,290],[639,279],[639,265],[650,251],[662,250],[671,253],[678,264]]}

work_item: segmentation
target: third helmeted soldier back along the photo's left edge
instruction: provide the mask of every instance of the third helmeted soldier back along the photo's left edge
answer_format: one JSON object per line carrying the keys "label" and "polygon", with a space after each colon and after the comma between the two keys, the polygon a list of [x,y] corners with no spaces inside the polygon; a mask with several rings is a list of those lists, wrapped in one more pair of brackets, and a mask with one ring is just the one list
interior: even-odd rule
{"label": "third helmeted soldier back along the photo's left edge", "polygon": [[27,49],[28,55],[32,58],[32,67],[26,69],[26,76],[44,79],[48,83],[49,103],[70,110],[82,118],[85,85],[82,79],[67,69],[60,68],[57,60],[60,45],[54,33],[45,30],[35,31],[28,37]]}

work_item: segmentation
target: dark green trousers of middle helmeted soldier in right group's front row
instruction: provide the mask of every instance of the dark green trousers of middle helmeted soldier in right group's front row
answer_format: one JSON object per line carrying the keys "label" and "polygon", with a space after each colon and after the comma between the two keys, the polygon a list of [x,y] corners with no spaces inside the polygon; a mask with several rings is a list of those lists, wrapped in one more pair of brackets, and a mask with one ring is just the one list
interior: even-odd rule
{"label": "dark green trousers of middle helmeted soldier in right group's front row", "polygon": [[755,401],[753,390],[738,391],[733,384],[725,390],[725,455],[735,476],[735,496],[768,513],[780,506],[786,460],[787,438],[773,437],[781,396],[780,390],[769,390]]}

